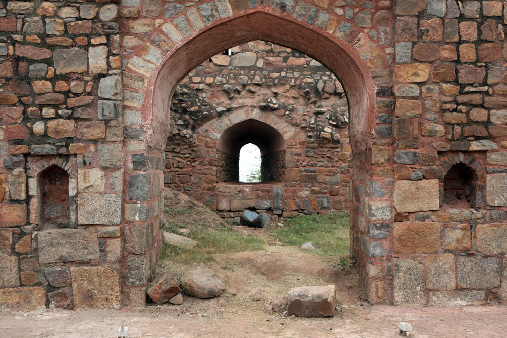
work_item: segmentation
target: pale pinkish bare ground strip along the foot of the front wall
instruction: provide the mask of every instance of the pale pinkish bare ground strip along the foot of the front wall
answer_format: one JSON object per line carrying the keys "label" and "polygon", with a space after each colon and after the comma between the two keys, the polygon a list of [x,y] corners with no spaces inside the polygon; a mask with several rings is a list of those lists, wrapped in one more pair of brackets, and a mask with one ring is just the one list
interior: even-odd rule
{"label": "pale pinkish bare ground strip along the foot of the front wall", "polygon": [[354,306],[332,318],[284,318],[265,313],[209,315],[162,305],[122,310],[41,310],[0,314],[0,337],[116,337],[123,322],[129,337],[396,337],[408,321],[415,337],[505,337],[507,307],[403,308]]}

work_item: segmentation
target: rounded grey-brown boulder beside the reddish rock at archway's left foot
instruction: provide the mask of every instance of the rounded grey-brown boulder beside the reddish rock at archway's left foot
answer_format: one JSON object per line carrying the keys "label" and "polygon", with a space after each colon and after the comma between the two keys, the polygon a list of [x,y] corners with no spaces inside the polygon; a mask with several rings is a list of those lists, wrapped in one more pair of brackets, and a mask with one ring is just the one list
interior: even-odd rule
{"label": "rounded grey-brown boulder beside the reddish rock at archway's left foot", "polygon": [[204,264],[193,265],[182,274],[180,281],[183,290],[197,298],[212,298],[225,291],[224,283]]}

